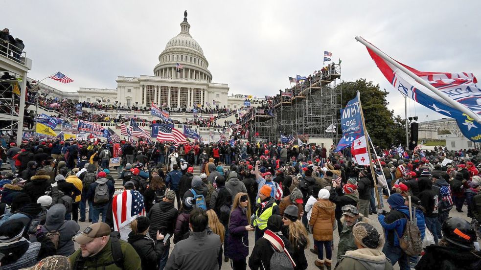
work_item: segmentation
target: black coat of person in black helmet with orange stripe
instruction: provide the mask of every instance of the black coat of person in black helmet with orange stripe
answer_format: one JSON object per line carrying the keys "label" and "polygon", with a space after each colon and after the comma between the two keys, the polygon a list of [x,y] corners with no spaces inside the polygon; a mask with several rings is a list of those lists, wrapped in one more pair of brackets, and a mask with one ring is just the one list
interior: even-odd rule
{"label": "black coat of person in black helmet with orange stripe", "polygon": [[431,245],[417,263],[416,270],[475,270],[481,269],[481,253],[457,248]]}

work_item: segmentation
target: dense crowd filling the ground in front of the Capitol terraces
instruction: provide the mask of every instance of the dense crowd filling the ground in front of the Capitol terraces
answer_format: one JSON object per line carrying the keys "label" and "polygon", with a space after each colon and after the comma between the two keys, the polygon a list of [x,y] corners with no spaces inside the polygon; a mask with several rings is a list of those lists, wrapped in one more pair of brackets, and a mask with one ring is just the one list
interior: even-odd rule
{"label": "dense crowd filling the ground in front of the Capitol terraces", "polygon": [[[373,177],[334,146],[240,140],[8,146],[0,269],[211,270],[228,262],[253,270],[481,267],[476,149],[411,158],[378,149],[384,155],[372,164]],[[113,157],[121,159],[117,179],[108,165]],[[452,161],[441,165],[443,158]],[[115,190],[117,181],[123,189]],[[450,215],[463,212],[464,202],[470,221]],[[308,260],[306,250],[317,259]]]}

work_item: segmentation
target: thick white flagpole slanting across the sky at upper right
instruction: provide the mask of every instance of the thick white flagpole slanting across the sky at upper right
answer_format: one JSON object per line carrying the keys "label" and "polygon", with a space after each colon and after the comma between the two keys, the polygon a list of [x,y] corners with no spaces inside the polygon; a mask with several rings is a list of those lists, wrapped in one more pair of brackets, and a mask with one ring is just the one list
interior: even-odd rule
{"label": "thick white flagpole slanting across the sky at upper right", "polygon": [[[360,43],[362,43],[363,45],[365,45],[366,47],[368,47],[369,49],[371,49],[372,51],[374,51],[377,55],[379,55],[381,58],[383,58],[384,60],[388,61],[391,65],[393,65],[394,67],[397,67],[399,68],[401,71],[403,71],[404,73],[408,74],[410,77],[412,77],[417,83],[421,84],[422,86],[426,87],[427,89],[431,90],[433,93],[435,93],[437,96],[439,96],[440,98],[442,98],[444,101],[446,101],[447,103],[449,103],[451,106],[453,106],[454,108],[458,109],[459,111],[461,112],[464,112],[467,114],[467,116],[469,116],[470,118],[472,118],[473,120],[475,120],[476,122],[480,123],[481,124],[481,117],[474,113],[473,111],[469,110],[468,108],[466,108],[465,106],[463,106],[462,104],[458,103],[457,101],[455,101],[454,99],[451,99],[447,94],[445,94],[444,92],[436,89],[434,86],[432,86],[431,84],[429,84],[428,82],[424,81],[423,79],[421,79],[419,76],[417,76],[416,74],[414,74],[411,70],[407,69],[406,67],[402,66],[401,64],[399,64],[398,62],[396,62],[394,59],[392,59],[391,57],[389,57],[389,55],[385,54],[384,52],[382,52],[380,49],[376,48],[374,45],[368,43],[365,39],[363,39],[362,37],[360,36],[356,36],[355,39],[357,41],[359,41]],[[471,120],[471,119],[470,119]]]}

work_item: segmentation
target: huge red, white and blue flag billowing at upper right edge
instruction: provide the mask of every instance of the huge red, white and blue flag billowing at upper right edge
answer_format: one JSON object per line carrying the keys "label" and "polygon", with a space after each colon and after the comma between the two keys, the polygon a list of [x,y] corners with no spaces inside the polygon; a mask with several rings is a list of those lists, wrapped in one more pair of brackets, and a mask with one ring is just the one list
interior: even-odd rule
{"label": "huge red, white and blue flag billowing at upper right edge", "polygon": [[[469,111],[477,115],[481,114],[481,104],[478,102],[481,98],[481,91],[476,85],[478,80],[473,73],[419,71],[390,58],[418,77],[415,78],[394,66],[392,61],[389,62],[370,48],[366,48],[374,63],[394,89],[426,108],[456,119],[459,129],[465,137],[475,142],[481,142],[481,124],[466,114]],[[430,84],[446,99],[418,81]],[[454,104],[461,106],[455,107]],[[465,107],[466,110],[461,110],[460,107]]]}

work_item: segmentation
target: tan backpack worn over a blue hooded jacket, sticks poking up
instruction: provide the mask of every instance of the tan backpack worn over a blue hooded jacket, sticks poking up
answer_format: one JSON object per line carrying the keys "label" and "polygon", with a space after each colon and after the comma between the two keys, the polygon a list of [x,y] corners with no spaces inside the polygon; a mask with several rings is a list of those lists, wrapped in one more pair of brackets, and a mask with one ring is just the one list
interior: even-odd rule
{"label": "tan backpack worn over a blue hooded jacket, sticks poking up", "polygon": [[[399,234],[397,233],[397,230],[394,229],[394,232],[397,235],[397,238],[399,239],[399,247],[404,251],[409,256],[419,256],[421,252],[423,251],[423,241],[421,239],[421,231],[417,227],[417,219],[416,219],[416,212],[414,210],[414,213],[411,214],[411,196],[409,196],[409,215],[410,218],[408,218],[404,213],[404,217],[408,220],[406,222],[406,225],[404,226],[404,233],[403,237],[399,237]],[[414,215],[414,219],[412,219],[412,215]]]}

